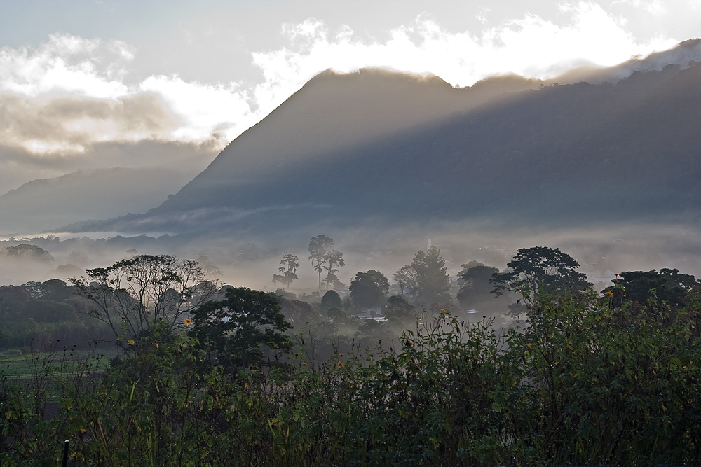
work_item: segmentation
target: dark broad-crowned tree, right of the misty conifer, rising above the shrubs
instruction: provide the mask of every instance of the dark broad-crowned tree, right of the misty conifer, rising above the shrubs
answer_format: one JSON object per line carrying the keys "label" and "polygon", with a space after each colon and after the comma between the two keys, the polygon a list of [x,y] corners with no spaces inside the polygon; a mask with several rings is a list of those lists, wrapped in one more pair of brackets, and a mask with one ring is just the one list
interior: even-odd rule
{"label": "dark broad-crowned tree, right of the misty conifer, rising above the shrubs", "polygon": [[585,274],[576,271],[579,263],[557,248],[533,246],[518,249],[507,267],[510,271],[491,277],[490,282],[494,284],[491,293],[500,296],[507,291],[517,292],[526,304],[543,292],[561,295],[592,286],[586,281]]}

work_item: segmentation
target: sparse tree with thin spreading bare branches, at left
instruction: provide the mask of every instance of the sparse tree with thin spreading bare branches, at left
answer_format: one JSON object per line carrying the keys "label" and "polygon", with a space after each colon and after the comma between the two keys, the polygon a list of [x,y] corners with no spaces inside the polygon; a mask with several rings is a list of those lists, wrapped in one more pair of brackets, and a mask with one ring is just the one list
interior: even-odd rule
{"label": "sparse tree with thin spreading bare branches, at left", "polygon": [[139,340],[156,324],[172,332],[184,314],[217,293],[216,282],[207,280],[196,261],[171,255],[134,256],[86,274],[70,279],[76,293],[93,305],[88,313],[107,323],[121,344]]}

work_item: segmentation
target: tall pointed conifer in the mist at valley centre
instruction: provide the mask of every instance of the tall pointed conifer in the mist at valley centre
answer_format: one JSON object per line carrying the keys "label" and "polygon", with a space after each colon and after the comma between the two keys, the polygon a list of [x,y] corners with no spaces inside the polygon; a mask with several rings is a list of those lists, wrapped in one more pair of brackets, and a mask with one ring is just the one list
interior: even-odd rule
{"label": "tall pointed conifer in the mist at valley centre", "polygon": [[419,250],[411,262],[416,271],[418,302],[426,305],[435,302],[449,302],[450,277],[445,266],[445,258],[437,246],[432,245],[426,253]]}

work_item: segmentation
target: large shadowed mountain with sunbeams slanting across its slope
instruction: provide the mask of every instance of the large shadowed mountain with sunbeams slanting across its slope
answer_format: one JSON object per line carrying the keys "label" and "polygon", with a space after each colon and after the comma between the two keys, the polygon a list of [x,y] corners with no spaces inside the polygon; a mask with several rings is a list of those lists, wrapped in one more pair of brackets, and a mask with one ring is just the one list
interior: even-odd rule
{"label": "large shadowed mountain with sunbeams slanting across its slope", "polygon": [[[627,76],[615,84],[512,75],[454,89],[435,76],[325,71],[160,207],[63,229],[698,223],[700,56],[699,41],[683,43],[655,63],[638,60],[648,71],[619,66]],[[658,66],[663,57],[686,63]]]}

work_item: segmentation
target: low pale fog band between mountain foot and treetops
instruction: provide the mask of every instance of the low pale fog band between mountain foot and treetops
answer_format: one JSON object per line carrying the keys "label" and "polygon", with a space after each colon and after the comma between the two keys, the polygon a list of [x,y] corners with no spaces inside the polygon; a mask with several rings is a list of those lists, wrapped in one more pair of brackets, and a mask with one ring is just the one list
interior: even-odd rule
{"label": "low pale fog band between mountain foot and treetops", "polygon": [[[393,272],[411,263],[416,252],[426,251],[428,242],[438,246],[446,258],[448,272],[455,276],[471,260],[503,270],[519,248],[550,246],[569,253],[580,263],[597,287],[606,272],[676,268],[701,277],[701,235],[694,225],[600,225],[591,228],[514,228],[491,223],[442,223],[381,228],[362,226],[355,230],[287,232],[266,239],[231,238],[226,235],[162,235],[91,239],[75,234],[0,241],[8,246],[32,244],[48,254],[33,259],[0,256],[0,284],[67,279],[90,267],[104,267],[138,254],[170,253],[182,258],[207,261],[222,271],[225,284],[273,291],[271,282],[283,254],[299,257],[299,279],[289,290],[309,293],[318,277],[308,260],[308,242],[315,235],[334,239],[334,249],[344,254],[345,266],[338,277],[348,286],[355,273],[379,270],[390,279]],[[89,234],[89,235],[95,235]],[[610,275],[610,274],[609,274]],[[601,290],[599,288],[599,290]]]}

